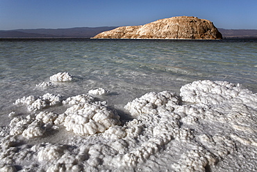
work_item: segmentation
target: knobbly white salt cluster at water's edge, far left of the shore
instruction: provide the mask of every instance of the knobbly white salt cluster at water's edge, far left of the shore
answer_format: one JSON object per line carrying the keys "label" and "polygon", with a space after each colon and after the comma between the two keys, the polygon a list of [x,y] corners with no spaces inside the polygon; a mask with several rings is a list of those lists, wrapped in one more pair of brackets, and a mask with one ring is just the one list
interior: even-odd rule
{"label": "knobbly white salt cluster at water's edge, far left of the shore", "polygon": [[44,107],[51,107],[56,104],[60,104],[62,101],[61,95],[53,95],[47,93],[43,96],[29,95],[28,97],[22,97],[15,101],[15,104],[24,104],[27,106],[28,111],[37,111]]}

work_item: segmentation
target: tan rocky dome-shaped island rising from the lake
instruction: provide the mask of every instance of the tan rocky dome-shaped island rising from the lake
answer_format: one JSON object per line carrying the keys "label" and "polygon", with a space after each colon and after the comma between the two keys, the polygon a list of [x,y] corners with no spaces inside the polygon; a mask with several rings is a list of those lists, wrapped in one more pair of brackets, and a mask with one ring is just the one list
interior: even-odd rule
{"label": "tan rocky dome-shaped island rising from the lake", "polygon": [[99,33],[94,38],[111,39],[222,39],[222,34],[207,19],[171,17],[141,26],[122,26]]}

